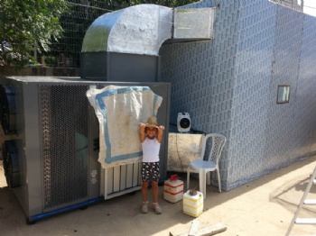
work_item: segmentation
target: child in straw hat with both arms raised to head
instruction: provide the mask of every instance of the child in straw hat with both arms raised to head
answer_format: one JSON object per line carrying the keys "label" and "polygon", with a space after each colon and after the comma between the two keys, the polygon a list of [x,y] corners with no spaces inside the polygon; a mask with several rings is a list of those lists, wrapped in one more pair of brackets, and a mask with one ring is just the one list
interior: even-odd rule
{"label": "child in straw hat with both arms raised to head", "polygon": [[164,126],[157,124],[157,119],[151,116],[147,123],[139,123],[139,139],[143,147],[143,167],[142,167],[142,213],[148,213],[147,189],[148,182],[152,182],[153,210],[154,213],[162,213],[162,208],[158,204],[158,180],[159,180],[159,150],[163,140]]}

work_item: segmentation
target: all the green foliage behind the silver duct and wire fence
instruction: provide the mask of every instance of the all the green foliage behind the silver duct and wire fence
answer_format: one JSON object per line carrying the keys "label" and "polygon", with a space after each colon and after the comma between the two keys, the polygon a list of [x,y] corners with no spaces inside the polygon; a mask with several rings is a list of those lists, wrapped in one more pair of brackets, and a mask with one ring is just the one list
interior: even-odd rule
{"label": "all the green foliage behind the silver duct and wire fence", "polygon": [[[132,5],[168,7],[198,0],[0,0],[0,65],[37,63],[35,53],[77,59],[88,26],[101,14]],[[82,13],[83,16],[77,17]],[[36,50],[35,50],[36,49]],[[50,51],[51,50],[51,51]],[[47,61],[46,61],[47,62]],[[78,67],[78,63],[74,63]]]}

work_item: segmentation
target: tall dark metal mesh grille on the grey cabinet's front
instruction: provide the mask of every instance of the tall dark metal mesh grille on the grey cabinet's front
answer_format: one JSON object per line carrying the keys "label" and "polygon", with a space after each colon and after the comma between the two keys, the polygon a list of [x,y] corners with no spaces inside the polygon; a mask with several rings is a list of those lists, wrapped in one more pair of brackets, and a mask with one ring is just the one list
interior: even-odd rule
{"label": "tall dark metal mesh grille on the grey cabinet's front", "polygon": [[44,209],[88,197],[87,86],[40,86]]}

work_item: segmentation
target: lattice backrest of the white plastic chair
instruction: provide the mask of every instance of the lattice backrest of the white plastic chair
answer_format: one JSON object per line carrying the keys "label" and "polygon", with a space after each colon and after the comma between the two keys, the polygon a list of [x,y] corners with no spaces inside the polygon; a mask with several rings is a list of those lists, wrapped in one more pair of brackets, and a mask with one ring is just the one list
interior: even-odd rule
{"label": "lattice backrest of the white plastic chair", "polygon": [[207,149],[206,144],[208,143],[209,138],[211,138],[211,147],[209,151],[209,158],[207,160],[215,161],[218,164],[218,160],[223,150],[225,143],[227,141],[226,137],[219,133],[209,133],[207,134],[202,142],[202,151],[200,159],[204,159],[205,150]]}

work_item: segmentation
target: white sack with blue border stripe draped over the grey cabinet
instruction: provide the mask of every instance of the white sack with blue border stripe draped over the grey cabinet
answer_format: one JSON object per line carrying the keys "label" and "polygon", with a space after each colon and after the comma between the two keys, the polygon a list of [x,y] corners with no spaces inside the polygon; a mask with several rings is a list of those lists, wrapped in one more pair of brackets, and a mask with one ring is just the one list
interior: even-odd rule
{"label": "white sack with blue border stripe draped over the grey cabinet", "polygon": [[87,96],[98,117],[98,161],[102,168],[141,161],[138,123],[156,116],[163,97],[155,95],[148,86],[90,88]]}

